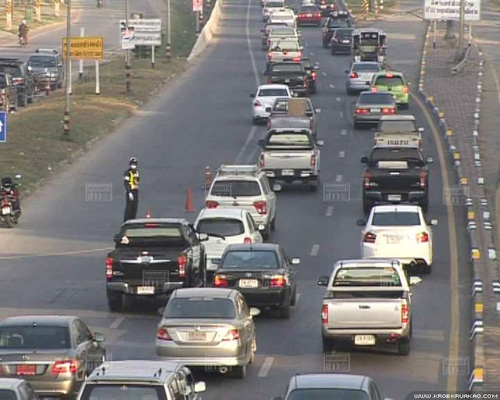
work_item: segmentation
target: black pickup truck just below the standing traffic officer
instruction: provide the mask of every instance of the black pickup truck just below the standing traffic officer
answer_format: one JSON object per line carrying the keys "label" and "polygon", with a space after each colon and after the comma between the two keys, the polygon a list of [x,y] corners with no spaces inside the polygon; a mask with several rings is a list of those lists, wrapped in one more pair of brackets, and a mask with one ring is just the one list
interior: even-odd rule
{"label": "black pickup truck just below the standing traffic officer", "polygon": [[185,219],[145,218],[124,223],[115,249],[106,258],[106,292],[111,311],[123,295],[161,296],[206,283],[206,235],[195,233]]}

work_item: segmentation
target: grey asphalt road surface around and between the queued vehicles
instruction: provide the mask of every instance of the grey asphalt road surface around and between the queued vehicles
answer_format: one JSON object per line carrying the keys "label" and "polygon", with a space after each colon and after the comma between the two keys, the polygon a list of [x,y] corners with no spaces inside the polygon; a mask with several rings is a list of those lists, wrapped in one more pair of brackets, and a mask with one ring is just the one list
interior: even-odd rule
{"label": "grey asphalt road surface around and between the queued vehicles", "polygon": [[[157,309],[162,301],[141,301],[123,313],[109,313],[105,297],[104,257],[118,230],[124,208],[122,174],[132,155],[139,159],[141,192],[139,215],[186,216],[186,190],[194,206],[202,208],[205,166],[223,162],[254,162],[257,140],[265,127],[253,127],[249,93],[264,82],[264,52],[260,49],[260,6],[255,0],[226,0],[226,13],[217,42],[177,82],[163,91],[139,117],[105,138],[85,158],[42,185],[23,204],[19,227],[0,230],[0,317],[29,313],[74,313],[95,331],[106,334],[112,359],[154,357]],[[389,33],[390,62],[417,82],[423,26],[413,17],[381,23]],[[201,373],[207,381],[204,399],[270,399],[282,395],[289,378],[298,372],[322,372],[320,313],[323,288],[320,275],[329,274],[335,261],[359,257],[362,164],[373,133],[353,130],[355,97],[346,97],[344,70],[348,56],[332,57],[321,48],[319,28],[303,28],[307,50],[320,63],[318,94],[313,96],[319,116],[323,183],[344,183],[348,201],[325,201],[320,190],[286,188],[278,194],[277,229],[271,236],[301,257],[297,266],[298,304],[290,320],[256,318],[257,359],[244,381]],[[255,67],[254,67],[255,66]],[[413,102],[409,112],[424,126],[424,150],[438,160],[431,127]],[[86,185],[106,183],[111,201],[87,201]],[[375,378],[384,397],[403,399],[411,391],[445,390],[450,376],[443,365],[450,354],[450,337],[459,334],[451,352],[468,356],[470,270],[464,243],[464,221],[457,221],[459,307],[453,310],[458,331],[451,330],[451,271],[448,213],[443,203],[446,185],[439,164],[431,168],[430,216],[435,228],[435,263],[414,289],[412,352],[407,357],[388,351],[352,351],[351,373]],[[88,187],[87,187],[88,188]],[[463,213],[455,213],[463,215]],[[453,360],[452,360],[453,361]],[[463,370],[461,372],[464,372]],[[464,389],[468,376],[460,375]]]}

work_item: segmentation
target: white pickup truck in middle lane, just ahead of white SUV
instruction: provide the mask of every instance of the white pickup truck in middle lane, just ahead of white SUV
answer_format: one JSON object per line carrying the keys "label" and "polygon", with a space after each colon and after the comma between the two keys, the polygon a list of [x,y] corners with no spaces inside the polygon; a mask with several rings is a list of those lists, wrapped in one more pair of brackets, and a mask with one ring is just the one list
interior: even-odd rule
{"label": "white pickup truck in middle lane, just ahead of white SUV", "polygon": [[302,181],[316,191],[319,186],[322,140],[316,140],[310,129],[272,129],[264,139],[260,166],[268,179],[286,183]]}

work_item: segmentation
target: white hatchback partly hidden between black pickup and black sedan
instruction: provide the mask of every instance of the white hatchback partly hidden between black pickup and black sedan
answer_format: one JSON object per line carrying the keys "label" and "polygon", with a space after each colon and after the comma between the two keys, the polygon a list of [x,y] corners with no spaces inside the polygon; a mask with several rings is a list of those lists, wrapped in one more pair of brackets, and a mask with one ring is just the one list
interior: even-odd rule
{"label": "white hatchback partly hidden between black pickup and black sedan", "polygon": [[220,259],[230,244],[262,243],[260,230],[264,225],[257,225],[252,215],[240,208],[204,208],[194,223],[198,233],[208,234],[203,242],[207,255],[207,272],[209,275],[217,269],[213,259]]}

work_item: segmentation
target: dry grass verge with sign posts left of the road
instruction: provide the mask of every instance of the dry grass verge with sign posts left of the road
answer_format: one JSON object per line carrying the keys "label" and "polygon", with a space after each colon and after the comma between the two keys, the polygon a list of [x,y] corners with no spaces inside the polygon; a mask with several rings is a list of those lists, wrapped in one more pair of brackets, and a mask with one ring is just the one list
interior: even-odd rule
{"label": "dry grass verge with sign posts left of the road", "polygon": [[[37,182],[54,173],[65,160],[72,160],[88,143],[116,129],[132,116],[174,74],[182,73],[184,60],[196,40],[191,4],[172,0],[172,50],[165,57],[165,40],[157,49],[156,68],[149,58],[132,58],[132,91],[125,90],[124,55],[119,54],[100,68],[101,94],[95,93],[95,68],[85,70],[84,82],[73,83],[71,133],[63,137],[65,93],[49,97],[8,116],[7,143],[0,144],[0,177],[23,175],[22,192],[33,191]],[[75,63],[73,71],[78,70]]]}

